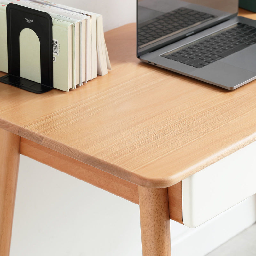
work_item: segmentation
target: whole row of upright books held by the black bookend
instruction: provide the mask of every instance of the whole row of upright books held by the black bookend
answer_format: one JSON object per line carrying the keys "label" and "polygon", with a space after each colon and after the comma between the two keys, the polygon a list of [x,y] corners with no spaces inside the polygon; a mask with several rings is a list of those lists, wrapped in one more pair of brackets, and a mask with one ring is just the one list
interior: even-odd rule
{"label": "whole row of upright books held by the black bookend", "polygon": [[[8,73],[6,6],[9,3],[47,12],[52,17],[54,88],[69,91],[111,70],[102,15],[43,0],[0,0],[0,71]],[[38,45],[34,31],[27,28],[21,31],[20,76],[41,83]]]}

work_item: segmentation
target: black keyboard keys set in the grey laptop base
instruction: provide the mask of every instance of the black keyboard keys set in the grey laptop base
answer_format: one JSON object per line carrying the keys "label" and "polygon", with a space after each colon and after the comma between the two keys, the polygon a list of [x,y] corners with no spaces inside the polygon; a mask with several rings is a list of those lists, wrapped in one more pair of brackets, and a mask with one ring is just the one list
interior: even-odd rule
{"label": "black keyboard keys set in the grey laptop base", "polygon": [[178,51],[161,56],[195,68],[203,68],[255,43],[256,28],[238,23],[230,29],[215,33],[214,36],[207,36]]}

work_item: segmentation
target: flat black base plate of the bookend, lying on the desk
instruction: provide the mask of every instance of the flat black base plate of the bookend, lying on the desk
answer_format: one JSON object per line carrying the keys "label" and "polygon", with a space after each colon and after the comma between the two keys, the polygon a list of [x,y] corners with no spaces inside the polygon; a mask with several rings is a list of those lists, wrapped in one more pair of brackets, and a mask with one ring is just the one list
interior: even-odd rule
{"label": "flat black base plate of the bookend, lying on the desk", "polygon": [[53,89],[53,87],[49,87],[19,76],[13,76],[11,74],[0,77],[0,82],[34,93],[44,93]]}

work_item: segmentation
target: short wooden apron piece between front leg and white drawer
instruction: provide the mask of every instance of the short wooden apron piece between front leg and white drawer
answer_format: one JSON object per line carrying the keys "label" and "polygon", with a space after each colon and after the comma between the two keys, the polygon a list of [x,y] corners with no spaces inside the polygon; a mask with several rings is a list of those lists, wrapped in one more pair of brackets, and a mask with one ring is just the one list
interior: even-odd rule
{"label": "short wooden apron piece between front leg and white drawer", "polygon": [[183,224],[182,220],[182,181],[168,188],[170,219]]}

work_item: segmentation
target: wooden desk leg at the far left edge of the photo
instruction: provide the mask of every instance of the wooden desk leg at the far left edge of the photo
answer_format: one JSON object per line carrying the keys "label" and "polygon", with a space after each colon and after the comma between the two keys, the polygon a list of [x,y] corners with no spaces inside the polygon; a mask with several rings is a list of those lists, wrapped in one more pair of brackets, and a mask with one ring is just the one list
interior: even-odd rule
{"label": "wooden desk leg at the far left edge of the photo", "polygon": [[0,128],[0,255],[10,252],[20,136]]}

